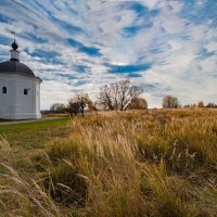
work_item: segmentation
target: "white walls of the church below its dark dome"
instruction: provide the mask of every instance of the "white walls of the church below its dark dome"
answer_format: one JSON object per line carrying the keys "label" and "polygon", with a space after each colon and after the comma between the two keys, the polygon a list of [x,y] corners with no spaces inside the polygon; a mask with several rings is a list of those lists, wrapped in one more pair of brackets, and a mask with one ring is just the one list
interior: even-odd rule
{"label": "white walls of the church below its dark dome", "polygon": [[[7,93],[2,93],[7,87]],[[28,94],[24,94],[28,89]],[[27,76],[0,74],[0,118],[40,118],[40,80]]]}

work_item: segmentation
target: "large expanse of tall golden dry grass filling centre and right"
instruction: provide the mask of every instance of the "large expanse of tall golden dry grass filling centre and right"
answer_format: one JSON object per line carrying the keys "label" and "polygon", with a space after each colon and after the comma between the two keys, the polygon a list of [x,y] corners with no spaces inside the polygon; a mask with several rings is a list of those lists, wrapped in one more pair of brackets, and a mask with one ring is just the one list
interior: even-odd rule
{"label": "large expanse of tall golden dry grass filling centre and right", "polygon": [[216,117],[163,111],[77,118],[69,138],[47,146],[46,184],[77,216],[216,216]]}

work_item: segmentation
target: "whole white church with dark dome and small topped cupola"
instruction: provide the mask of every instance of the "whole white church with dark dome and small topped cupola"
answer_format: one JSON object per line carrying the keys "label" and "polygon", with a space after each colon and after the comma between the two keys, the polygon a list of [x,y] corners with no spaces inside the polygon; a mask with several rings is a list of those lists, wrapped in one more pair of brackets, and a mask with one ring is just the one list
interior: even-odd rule
{"label": "whole white church with dark dome and small topped cupola", "polygon": [[20,62],[15,40],[11,47],[11,60],[0,63],[0,118],[38,119],[42,80]]}

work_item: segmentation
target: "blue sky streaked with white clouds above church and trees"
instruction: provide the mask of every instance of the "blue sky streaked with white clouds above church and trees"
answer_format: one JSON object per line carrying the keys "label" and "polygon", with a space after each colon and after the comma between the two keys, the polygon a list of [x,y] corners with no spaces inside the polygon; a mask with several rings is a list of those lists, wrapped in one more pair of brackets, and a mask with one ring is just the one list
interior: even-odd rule
{"label": "blue sky streaked with white clouds above church and trees", "polygon": [[217,102],[217,0],[0,0],[0,62],[15,30],[41,108],[129,78],[150,107]]}

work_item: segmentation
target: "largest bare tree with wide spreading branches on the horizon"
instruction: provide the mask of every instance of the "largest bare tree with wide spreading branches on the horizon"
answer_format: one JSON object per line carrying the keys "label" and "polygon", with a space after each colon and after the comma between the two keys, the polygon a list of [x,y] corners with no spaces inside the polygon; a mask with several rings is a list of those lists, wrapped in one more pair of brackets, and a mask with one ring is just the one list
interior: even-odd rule
{"label": "largest bare tree with wide spreading branches on the horizon", "polygon": [[132,85],[129,80],[122,80],[102,87],[99,101],[106,110],[126,111],[133,99],[141,93],[140,87]]}

